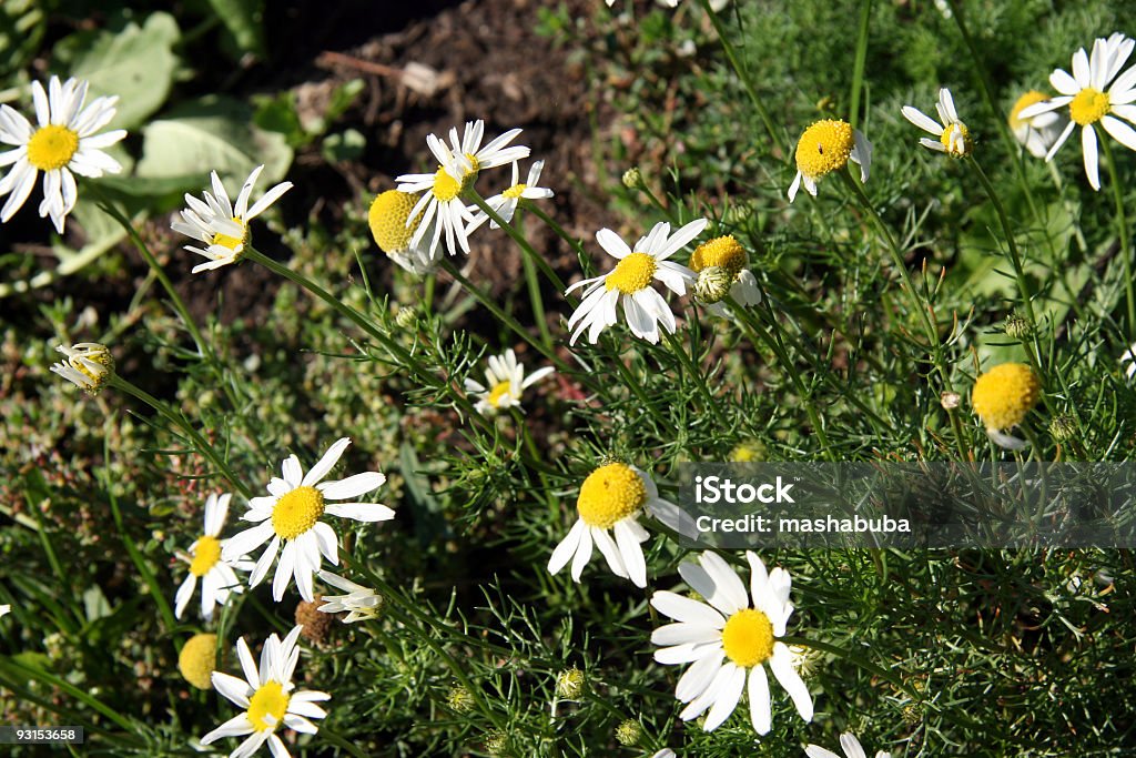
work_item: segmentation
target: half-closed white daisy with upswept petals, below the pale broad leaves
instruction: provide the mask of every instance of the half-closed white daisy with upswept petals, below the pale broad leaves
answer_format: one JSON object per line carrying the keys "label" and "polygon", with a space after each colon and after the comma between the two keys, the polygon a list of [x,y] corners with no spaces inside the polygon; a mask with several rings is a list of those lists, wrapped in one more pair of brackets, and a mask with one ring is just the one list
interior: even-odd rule
{"label": "half-closed white daisy with upswept petals, below the pale broad leaves", "polygon": [[240,260],[244,245],[249,244],[251,239],[249,222],[268,210],[281,195],[292,189],[292,182],[281,182],[250,208],[249,198],[252,195],[252,188],[256,186],[264,168],[264,164],[257,166],[249,174],[249,178],[244,180],[244,185],[236,195],[236,205],[229,202],[228,193],[220,183],[217,172],[209,173],[212,194],[208,190],[202,192],[204,201],[185,193],[185,205],[189,208],[181,211],[182,220],[175,219],[169,226],[175,232],[191,236],[206,245],[204,248],[185,245],[190,252],[208,259],[194,266],[191,273],[220,268]]}

